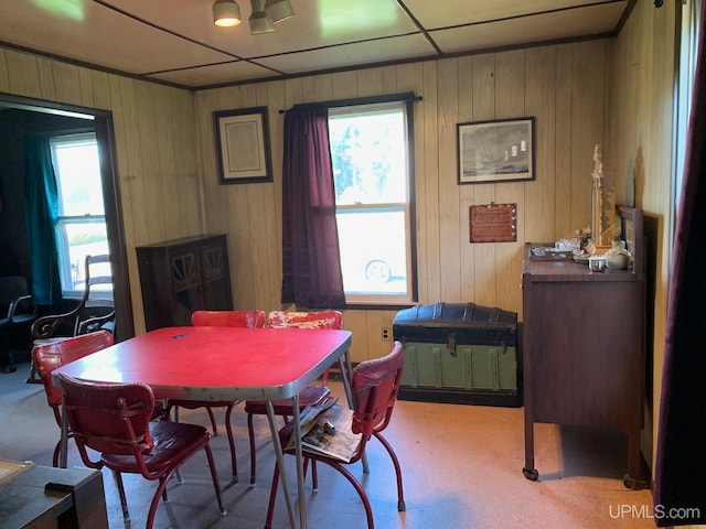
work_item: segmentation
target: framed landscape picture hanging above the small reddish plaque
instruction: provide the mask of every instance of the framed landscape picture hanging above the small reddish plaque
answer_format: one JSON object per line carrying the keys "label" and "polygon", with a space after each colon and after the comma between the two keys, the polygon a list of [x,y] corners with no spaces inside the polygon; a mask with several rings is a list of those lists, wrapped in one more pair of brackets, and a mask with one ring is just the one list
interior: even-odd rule
{"label": "framed landscape picture hanging above the small reddish plaque", "polygon": [[459,184],[534,180],[534,118],[458,125]]}

